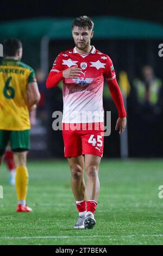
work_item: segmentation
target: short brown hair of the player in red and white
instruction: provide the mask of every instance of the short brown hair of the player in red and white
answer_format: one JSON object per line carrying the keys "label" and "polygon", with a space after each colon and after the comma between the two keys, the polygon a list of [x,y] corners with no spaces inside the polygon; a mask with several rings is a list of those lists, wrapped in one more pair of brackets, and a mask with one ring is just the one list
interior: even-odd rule
{"label": "short brown hair of the player in red and white", "polygon": [[75,21],[72,22],[72,30],[74,27],[79,28],[88,28],[89,30],[93,30],[94,23],[88,16],[80,16]]}

